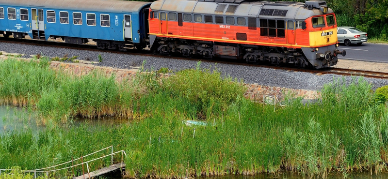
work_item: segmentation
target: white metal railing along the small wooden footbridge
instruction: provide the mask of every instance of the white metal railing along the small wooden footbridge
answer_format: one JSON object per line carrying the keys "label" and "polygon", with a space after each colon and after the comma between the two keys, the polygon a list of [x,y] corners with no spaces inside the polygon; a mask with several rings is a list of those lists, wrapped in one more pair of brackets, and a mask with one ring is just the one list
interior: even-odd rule
{"label": "white metal railing along the small wooden footbridge", "polygon": [[[102,157],[98,157],[96,159],[92,159],[90,161],[86,161],[86,162],[83,162],[83,158],[87,157],[87,156],[90,156],[90,155],[93,155],[95,153],[98,153],[102,150],[105,150],[105,149],[109,149],[111,148],[112,149],[112,152],[111,154],[109,155],[104,155]],[[105,157],[109,157],[111,156],[111,164],[113,164],[113,155],[116,154],[116,153],[119,153],[121,152],[121,167],[123,166],[123,154],[125,156],[127,156],[127,153],[125,153],[124,150],[119,150],[119,151],[116,151],[116,152],[113,152],[113,146],[109,146],[109,147],[106,147],[104,149],[100,149],[98,151],[95,151],[93,153],[90,153],[90,154],[87,154],[85,156],[81,156],[80,158],[77,158],[77,159],[72,159],[71,161],[68,161],[68,162],[65,162],[65,163],[62,163],[62,164],[57,164],[57,165],[54,165],[54,166],[49,166],[49,167],[46,167],[46,168],[39,168],[39,169],[34,169],[34,170],[22,170],[22,169],[0,169],[0,175],[1,175],[1,171],[20,171],[22,173],[34,173],[34,179],[36,179],[36,173],[45,173],[46,172],[46,176],[49,176],[49,172],[55,172],[55,171],[59,171],[59,170],[65,170],[65,169],[68,169],[68,168],[72,168],[72,167],[75,167],[75,166],[79,166],[79,165],[82,165],[82,173],[83,173],[83,164],[86,164],[86,167],[87,167],[87,170],[88,170],[88,174],[90,173],[89,172],[89,164],[90,162],[93,162],[93,161],[96,161],[96,160],[99,160],[99,159],[102,159],[102,158],[105,158]],[[61,166],[61,165],[64,165],[64,164],[68,164],[68,163],[73,163],[74,161],[77,161],[77,160],[81,160],[81,164],[74,164],[72,166],[67,166],[67,167],[63,167],[63,168],[59,168],[59,169],[51,169],[51,170],[47,170],[47,169],[50,169],[50,168],[55,168],[57,166]],[[85,176],[85,174],[83,174],[83,176]],[[90,174],[89,174],[89,179],[90,179]]]}

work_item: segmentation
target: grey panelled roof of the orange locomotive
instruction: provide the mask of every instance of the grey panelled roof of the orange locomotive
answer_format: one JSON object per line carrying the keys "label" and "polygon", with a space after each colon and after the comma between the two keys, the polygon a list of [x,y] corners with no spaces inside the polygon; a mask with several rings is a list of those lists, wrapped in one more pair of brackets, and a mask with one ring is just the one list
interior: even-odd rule
{"label": "grey panelled roof of the orange locomotive", "polygon": [[[235,7],[229,11],[229,6]],[[323,14],[320,9],[309,9],[302,2],[272,2],[269,0],[157,0],[151,4],[151,9],[167,12],[284,19],[306,19],[313,15]],[[333,11],[329,8],[327,13],[333,13]]]}

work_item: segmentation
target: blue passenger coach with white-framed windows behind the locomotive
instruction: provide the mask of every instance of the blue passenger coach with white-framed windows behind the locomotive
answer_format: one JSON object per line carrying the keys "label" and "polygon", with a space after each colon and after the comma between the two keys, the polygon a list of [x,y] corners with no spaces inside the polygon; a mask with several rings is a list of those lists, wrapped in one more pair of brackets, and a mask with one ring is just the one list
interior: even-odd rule
{"label": "blue passenger coach with white-framed windows behind the locomotive", "polygon": [[124,0],[0,0],[0,33],[98,48],[143,48],[150,2]]}

